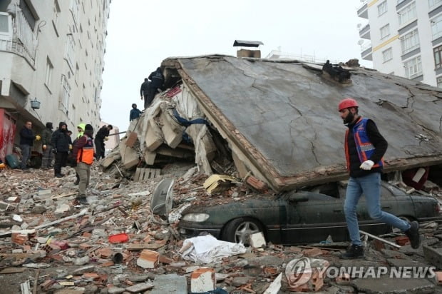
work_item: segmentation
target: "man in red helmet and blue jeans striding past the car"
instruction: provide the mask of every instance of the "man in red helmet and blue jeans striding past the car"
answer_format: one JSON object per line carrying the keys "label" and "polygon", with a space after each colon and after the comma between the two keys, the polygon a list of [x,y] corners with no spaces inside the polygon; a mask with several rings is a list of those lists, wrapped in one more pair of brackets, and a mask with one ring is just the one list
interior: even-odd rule
{"label": "man in red helmet and blue jeans striding past the car", "polygon": [[388,143],[379,133],[374,121],[359,116],[358,109],[358,103],[353,98],[343,99],[338,106],[341,118],[348,126],[345,135],[345,156],[350,174],[344,213],[351,245],[346,253],[341,255],[341,258],[364,257],[356,215],[356,206],[362,194],[366,198],[366,206],[371,218],[401,229],[410,239],[411,247],[418,248],[420,243],[418,222],[408,223],[390,213],[381,211],[381,172],[384,167],[383,156]]}

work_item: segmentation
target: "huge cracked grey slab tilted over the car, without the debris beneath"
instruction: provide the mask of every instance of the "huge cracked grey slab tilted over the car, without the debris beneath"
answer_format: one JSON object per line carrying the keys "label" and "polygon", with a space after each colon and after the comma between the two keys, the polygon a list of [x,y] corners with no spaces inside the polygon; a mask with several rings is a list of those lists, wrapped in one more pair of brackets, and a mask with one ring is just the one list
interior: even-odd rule
{"label": "huge cracked grey slab tilted over the car, without the debris beneath", "polygon": [[361,68],[342,86],[298,61],[199,56],[162,66],[229,143],[239,170],[276,191],[347,177],[337,111],[346,96],[389,141],[385,171],[442,163],[439,88]]}

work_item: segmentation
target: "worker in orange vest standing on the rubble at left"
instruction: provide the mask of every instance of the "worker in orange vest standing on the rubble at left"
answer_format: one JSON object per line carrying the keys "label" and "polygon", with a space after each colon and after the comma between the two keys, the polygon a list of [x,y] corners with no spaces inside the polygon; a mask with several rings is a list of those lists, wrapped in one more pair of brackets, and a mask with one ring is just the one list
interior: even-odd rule
{"label": "worker in orange vest standing on the rubble at left", "polygon": [[84,127],[83,136],[73,146],[73,158],[76,158],[76,172],[80,181],[78,183],[78,194],[76,199],[81,204],[88,204],[86,199],[86,188],[91,179],[91,166],[93,163],[93,127],[87,124]]}

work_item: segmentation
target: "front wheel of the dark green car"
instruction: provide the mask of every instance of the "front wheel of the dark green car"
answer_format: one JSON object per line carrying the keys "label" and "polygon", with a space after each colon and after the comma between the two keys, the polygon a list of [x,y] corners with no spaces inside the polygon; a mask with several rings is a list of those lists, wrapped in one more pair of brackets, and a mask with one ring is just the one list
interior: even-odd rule
{"label": "front wheel of the dark green car", "polygon": [[235,218],[222,230],[222,240],[250,245],[250,235],[264,233],[261,223],[253,218]]}

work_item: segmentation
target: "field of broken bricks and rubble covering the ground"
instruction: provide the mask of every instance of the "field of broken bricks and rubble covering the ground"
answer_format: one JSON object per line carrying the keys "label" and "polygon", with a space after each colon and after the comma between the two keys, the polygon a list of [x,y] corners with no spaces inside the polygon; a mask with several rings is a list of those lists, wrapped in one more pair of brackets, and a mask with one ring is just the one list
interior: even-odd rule
{"label": "field of broken bricks and rubble covering the ground", "polygon": [[[391,233],[367,238],[366,258],[360,260],[339,258],[344,243],[282,246],[265,243],[259,234],[246,253],[226,256],[221,263],[185,260],[176,222],[168,223],[150,211],[150,197],[163,178],[175,179],[176,206],[217,205],[252,197],[256,189],[266,188],[251,178],[248,185],[237,184],[210,196],[202,188],[207,176],[183,177],[191,167],[169,166],[157,178],[133,182],[111,178],[94,163],[87,207],[74,202],[77,186],[72,168],[66,168],[64,178],[53,178],[50,171],[2,170],[0,284],[9,293],[215,293],[215,289],[217,293],[383,293],[391,288],[431,293],[442,289],[438,249],[442,226],[434,222],[421,224],[423,244],[417,250],[407,245],[403,235]],[[287,275],[287,265],[303,257],[325,260],[334,267],[432,266],[435,275],[378,283],[375,278],[312,273],[297,288]],[[377,290],[367,286],[370,283]]]}

